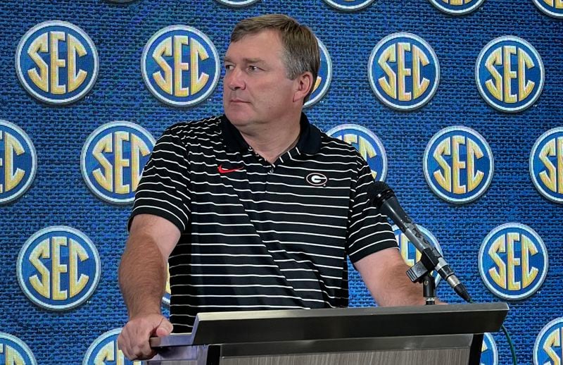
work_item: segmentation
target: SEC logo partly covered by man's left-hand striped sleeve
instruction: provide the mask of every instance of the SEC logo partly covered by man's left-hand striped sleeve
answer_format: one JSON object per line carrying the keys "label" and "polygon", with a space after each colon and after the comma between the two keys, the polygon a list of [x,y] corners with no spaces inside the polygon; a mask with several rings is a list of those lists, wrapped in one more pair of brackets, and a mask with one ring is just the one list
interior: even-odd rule
{"label": "SEC logo partly covered by man's left-hand striped sleeve", "polygon": [[125,121],[101,125],[82,147],[82,178],[96,197],[108,203],[129,204],[155,143],[140,125]]}

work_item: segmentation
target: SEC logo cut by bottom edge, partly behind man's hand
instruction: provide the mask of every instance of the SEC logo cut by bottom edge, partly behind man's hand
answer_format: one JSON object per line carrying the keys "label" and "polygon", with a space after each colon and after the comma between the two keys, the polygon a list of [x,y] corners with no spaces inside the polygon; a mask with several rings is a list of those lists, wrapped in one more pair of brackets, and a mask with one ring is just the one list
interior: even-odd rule
{"label": "SEC logo cut by bottom edge, partly behind man's hand", "polygon": [[128,360],[123,352],[118,349],[118,336],[121,328],[108,330],[88,347],[82,365],[141,365],[142,361]]}

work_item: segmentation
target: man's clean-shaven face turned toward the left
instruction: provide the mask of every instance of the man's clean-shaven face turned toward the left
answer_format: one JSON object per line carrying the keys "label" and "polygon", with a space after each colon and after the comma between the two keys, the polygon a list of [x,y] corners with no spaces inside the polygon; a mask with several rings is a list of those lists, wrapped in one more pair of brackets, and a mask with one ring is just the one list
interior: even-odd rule
{"label": "man's clean-shaven face turned toward the left", "polygon": [[237,127],[283,120],[303,101],[293,101],[298,79],[289,80],[276,31],[233,42],[224,56],[223,107]]}

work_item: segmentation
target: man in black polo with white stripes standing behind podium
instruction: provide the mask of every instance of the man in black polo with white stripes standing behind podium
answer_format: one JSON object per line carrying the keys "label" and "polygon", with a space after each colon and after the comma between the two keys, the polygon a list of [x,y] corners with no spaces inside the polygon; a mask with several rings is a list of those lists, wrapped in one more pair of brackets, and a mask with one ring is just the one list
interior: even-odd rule
{"label": "man in black polo with white stripes standing behind podium", "polygon": [[[281,15],[236,25],[224,116],[168,128],[139,184],[120,264],[129,359],[148,338],[190,332],[198,311],[346,307],[346,255],[381,306],[423,304],[369,167],[302,113],[320,65],[315,36]],[[170,319],[160,301],[170,264]]]}

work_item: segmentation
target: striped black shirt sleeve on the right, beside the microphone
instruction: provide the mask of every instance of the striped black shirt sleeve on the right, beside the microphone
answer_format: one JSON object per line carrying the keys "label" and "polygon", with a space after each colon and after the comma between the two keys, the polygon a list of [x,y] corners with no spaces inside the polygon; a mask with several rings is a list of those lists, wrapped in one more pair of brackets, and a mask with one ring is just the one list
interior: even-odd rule
{"label": "striped black shirt sleeve on the right, beside the microphone", "polygon": [[372,203],[374,179],[372,171],[358,154],[358,177],[350,195],[348,236],[346,250],[352,263],[389,247],[398,248],[395,234],[387,221]]}

